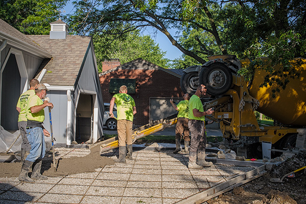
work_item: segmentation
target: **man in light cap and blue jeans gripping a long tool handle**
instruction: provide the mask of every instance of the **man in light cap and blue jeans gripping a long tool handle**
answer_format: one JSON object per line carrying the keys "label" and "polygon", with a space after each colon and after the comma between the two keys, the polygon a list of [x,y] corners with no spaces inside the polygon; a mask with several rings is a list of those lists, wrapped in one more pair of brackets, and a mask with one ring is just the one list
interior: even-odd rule
{"label": "man in light cap and blue jeans gripping a long tool handle", "polygon": [[[47,130],[44,129],[42,123],[44,121],[44,108],[51,107],[53,104],[48,100],[41,100],[45,98],[48,89],[43,84],[38,84],[35,88],[35,95],[29,98],[27,106],[27,138],[31,145],[30,154],[24,159],[21,167],[19,180],[22,182],[34,183],[34,180],[45,180],[47,176],[40,173],[42,158],[45,155],[44,137],[50,137]],[[29,170],[34,164],[31,178],[28,176]]]}

